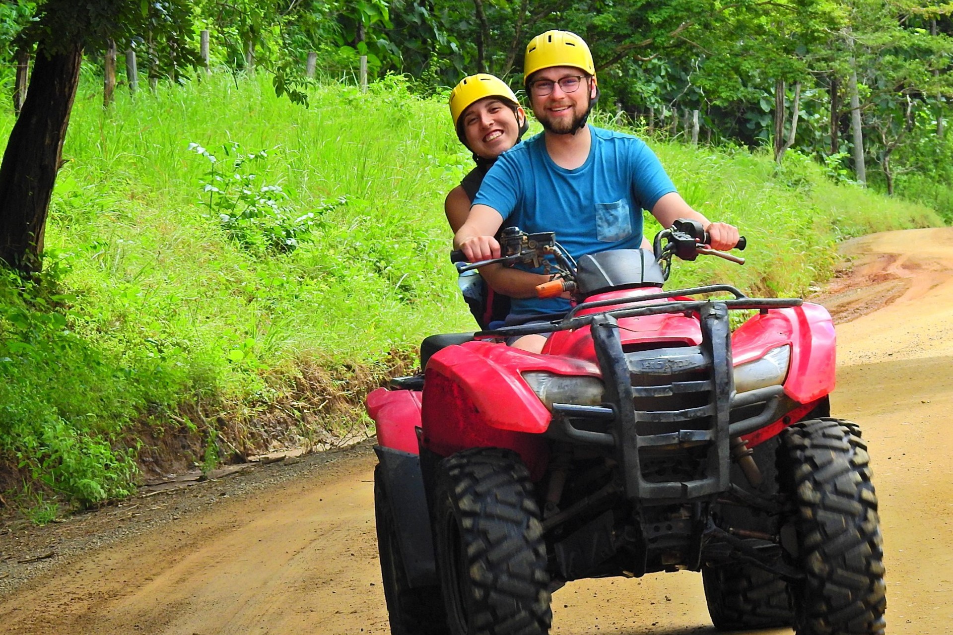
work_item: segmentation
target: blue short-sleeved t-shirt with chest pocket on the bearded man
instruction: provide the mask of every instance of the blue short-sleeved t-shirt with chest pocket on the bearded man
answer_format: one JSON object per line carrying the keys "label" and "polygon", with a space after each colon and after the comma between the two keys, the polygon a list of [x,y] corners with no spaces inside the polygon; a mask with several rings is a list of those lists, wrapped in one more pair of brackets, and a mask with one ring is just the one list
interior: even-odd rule
{"label": "blue short-sleeved t-shirt with chest pocket on the bearded man", "polygon": [[[609,249],[638,249],[642,209],[676,191],[655,153],[643,141],[590,126],[592,147],[577,169],[556,165],[543,133],[503,152],[487,172],[474,205],[487,205],[503,225],[523,231],[555,231],[574,258]],[[537,272],[541,269],[537,269]],[[569,308],[560,298],[514,298],[511,314],[552,313]]]}

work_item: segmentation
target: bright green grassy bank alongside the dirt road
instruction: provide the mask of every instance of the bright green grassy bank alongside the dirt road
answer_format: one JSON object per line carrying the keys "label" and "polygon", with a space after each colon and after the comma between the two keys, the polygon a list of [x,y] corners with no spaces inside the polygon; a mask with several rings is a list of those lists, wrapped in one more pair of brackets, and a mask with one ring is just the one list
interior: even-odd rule
{"label": "bright green grassy bank alongside the dirt road", "polygon": [[[442,102],[389,79],[367,94],[321,86],[303,109],[265,77],[213,76],[120,92],[104,112],[99,90],[84,76],[44,276],[0,279],[0,452],[33,482],[93,505],[131,491],[137,453],[150,450],[140,438],[188,437],[208,468],[225,456],[216,440],[260,448],[279,427],[340,431],[353,411],[341,405],[422,337],[473,328],[442,213],[470,159]],[[11,124],[0,117],[0,131]],[[836,186],[793,154],[779,170],[744,151],[654,147],[691,204],[751,242],[743,268],[679,264],[676,284],[799,294],[829,276],[839,238],[939,223]],[[267,158],[231,168],[260,150]],[[264,206],[223,224],[203,183],[233,184],[216,205],[242,184],[279,186],[284,215]],[[236,239],[308,213],[298,248]]]}

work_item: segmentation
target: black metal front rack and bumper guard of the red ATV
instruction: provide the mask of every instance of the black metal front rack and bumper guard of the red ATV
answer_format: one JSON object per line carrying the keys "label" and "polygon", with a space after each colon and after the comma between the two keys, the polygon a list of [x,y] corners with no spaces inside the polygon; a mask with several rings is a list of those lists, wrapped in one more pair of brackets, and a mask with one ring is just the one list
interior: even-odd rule
{"label": "black metal front rack and bumper guard of the red ATV", "polygon": [[[719,292],[735,297],[671,300]],[[658,300],[668,302],[651,304]],[[798,306],[800,299],[748,298],[737,288],[713,285],[583,303],[553,322],[502,327],[477,336],[591,327],[605,386],[603,405],[554,404],[547,434],[611,448],[625,475],[625,496],[632,501],[711,502],[730,487],[730,440],[776,421],[790,406],[780,386],[735,393],[728,312]],[[607,309],[579,315],[594,308]],[[623,350],[619,319],[662,313],[698,315],[700,346]],[[743,418],[732,422],[733,410]],[[665,465],[673,451],[694,467],[659,475],[657,466]]]}

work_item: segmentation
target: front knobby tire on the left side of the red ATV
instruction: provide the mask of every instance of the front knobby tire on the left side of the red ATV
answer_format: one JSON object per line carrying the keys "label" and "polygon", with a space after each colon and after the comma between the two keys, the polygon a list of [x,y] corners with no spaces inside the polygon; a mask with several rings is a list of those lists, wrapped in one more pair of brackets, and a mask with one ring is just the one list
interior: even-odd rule
{"label": "front knobby tire on the left side of the red ATV", "polygon": [[546,546],[515,452],[464,450],[436,469],[436,564],[453,635],[545,635]]}

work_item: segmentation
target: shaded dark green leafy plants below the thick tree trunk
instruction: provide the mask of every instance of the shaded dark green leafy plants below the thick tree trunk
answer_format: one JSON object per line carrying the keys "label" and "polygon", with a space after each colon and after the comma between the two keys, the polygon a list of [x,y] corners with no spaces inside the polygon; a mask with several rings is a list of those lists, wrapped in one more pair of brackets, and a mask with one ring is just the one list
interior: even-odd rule
{"label": "shaded dark green leafy plants below the thick tree trunk", "polygon": [[[0,279],[0,450],[34,481],[89,506],[132,491],[133,454],[113,449],[110,428],[132,414],[135,394],[71,328],[74,296],[52,292],[62,271]],[[61,376],[64,368],[76,374]],[[101,392],[104,384],[112,390]]]}

